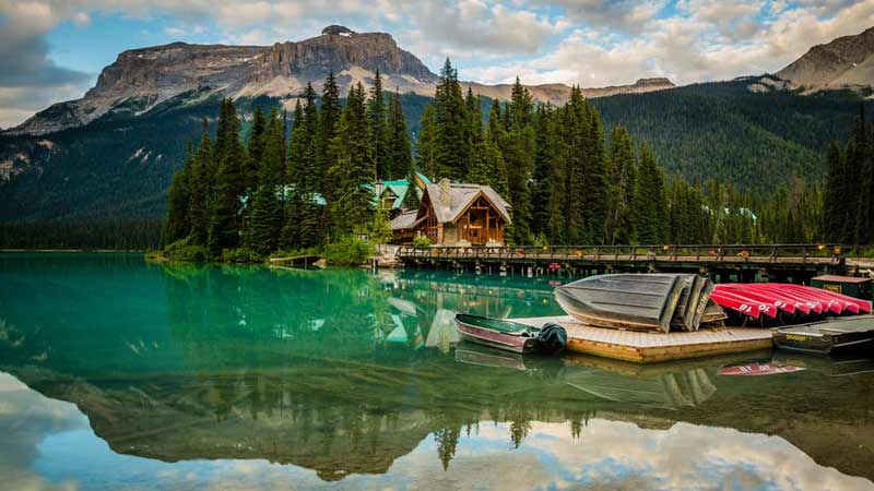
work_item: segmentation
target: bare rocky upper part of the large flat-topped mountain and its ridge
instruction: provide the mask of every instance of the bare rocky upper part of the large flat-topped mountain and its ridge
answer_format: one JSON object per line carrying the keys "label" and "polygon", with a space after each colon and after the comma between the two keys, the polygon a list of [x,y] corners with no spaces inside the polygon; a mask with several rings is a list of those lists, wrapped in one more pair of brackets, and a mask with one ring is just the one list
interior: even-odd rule
{"label": "bare rocky upper part of the large flat-topped mountain and its ridge", "polygon": [[[234,99],[271,97],[287,109],[311,83],[317,92],[330,72],[341,93],[357,82],[369,86],[376,71],[383,86],[402,93],[430,96],[438,76],[389,34],[355,33],[332,25],[317,37],[273,46],[189,45],[173,43],[132,49],[119,55],[81,99],[55,104],[36,113],[10,134],[48,134],[81,127],[108,113],[140,116],[169,99],[197,104],[211,96]],[[492,98],[509,98],[510,85],[466,83]],[[641,80],[633,85],[587,88],[588,97],[650,92],[673,87],[666,79]],[[564,104],[570,87],[562,84],[531,86],[538,100]]]}

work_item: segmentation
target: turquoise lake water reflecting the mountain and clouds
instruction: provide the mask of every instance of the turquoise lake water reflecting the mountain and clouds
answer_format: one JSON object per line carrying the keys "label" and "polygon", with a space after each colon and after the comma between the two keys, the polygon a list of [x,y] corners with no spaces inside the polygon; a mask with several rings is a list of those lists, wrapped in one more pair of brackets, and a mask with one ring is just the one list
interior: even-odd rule
{"label": "turquoise lake water reflecting the mountain and clouds", "polygon": [[[874,360],[457,346],[545,279],[0,254],[0,489],[874,489]],[[799,367],[767,376],[724,367]]]}

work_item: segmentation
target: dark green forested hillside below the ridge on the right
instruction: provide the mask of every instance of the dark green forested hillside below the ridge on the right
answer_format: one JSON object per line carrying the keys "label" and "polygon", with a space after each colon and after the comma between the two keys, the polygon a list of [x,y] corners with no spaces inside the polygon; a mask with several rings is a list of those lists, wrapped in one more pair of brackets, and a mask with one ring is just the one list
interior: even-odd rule
{"label": "dark green forested hillside below the ridge on the right", "polygon": [[[669,171],[711,177],[753,192],[792,177],[822,179],[830,142],[846,141],[859,97],[755,93],[751,80],[694,84],[650,94],[593,99],[604,123],[647,141]],[[871,103],[869,103],[871,104]]]}

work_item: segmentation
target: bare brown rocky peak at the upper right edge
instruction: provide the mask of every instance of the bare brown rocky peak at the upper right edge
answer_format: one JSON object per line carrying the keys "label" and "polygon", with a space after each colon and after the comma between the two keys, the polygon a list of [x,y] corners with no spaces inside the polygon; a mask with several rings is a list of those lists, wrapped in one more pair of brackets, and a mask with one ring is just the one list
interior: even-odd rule
{"label": "bare brown rocky peak at the upper right edge", "polygon": [[776,75],[805,94],[847,88],[870,92],[874,86],[874,27],[816,45]]}

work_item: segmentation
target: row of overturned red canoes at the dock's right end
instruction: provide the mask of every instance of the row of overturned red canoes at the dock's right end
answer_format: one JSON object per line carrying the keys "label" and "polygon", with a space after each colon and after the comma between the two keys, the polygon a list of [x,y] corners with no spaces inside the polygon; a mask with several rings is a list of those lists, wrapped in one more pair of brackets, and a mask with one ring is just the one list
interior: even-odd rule
{"label": "row of overturned red canoes at the dock's right end", "polygon": [[782,283],[721,284],[716,286],[710,298],[741,322],[792,324],[871,313],[869,300]]}

